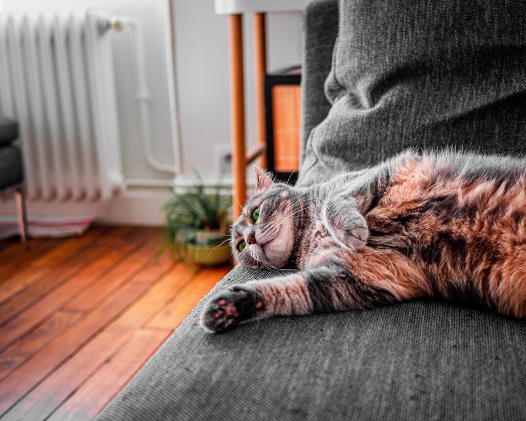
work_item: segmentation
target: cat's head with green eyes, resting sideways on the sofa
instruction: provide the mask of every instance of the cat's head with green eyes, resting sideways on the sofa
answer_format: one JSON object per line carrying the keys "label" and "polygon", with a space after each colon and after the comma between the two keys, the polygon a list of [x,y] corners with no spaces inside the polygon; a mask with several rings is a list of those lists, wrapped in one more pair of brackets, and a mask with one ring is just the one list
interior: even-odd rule
{"label": "cat's head with green eyes, resting sideways on the sofa", "polygon": [[245,266],[282,267],[294,249],[301,201],[293,187],[275,183],[256,166],[254,171],[255,191],[232,225],[232,253]]}

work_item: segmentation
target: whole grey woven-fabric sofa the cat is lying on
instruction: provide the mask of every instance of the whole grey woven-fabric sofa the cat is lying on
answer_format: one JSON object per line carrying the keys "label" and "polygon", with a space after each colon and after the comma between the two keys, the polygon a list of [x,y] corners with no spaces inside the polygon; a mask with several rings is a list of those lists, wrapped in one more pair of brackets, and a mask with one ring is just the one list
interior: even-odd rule
{"label": "whole grey woven-fabric sofa the cat is lying on", "polygon": [[[393,31],[409,39],[404,42],[414,48],[423,47],[411,42],[411,36],[417,41],[426,39],[425,30],[419,32],[419,18],[432,16],[427,30],[447,38],[440,22],[447,23],[448,16],[469,19],[470,13],[477,17],[480,11],[487,19],[482,26],[454,21],[452,33],[468,27],[470,39],[477,38],[477,31],[499,37],[492,25],[495,19],[504,19],[497,23],[511,22],[523,41],[517,41],[516,49],[501,50],[487,40],[479,49],[458,41],[464,53],[480,54],[480,62],[473,64],[473,57],[463,57],[469,66],[448,73],[444,67],[448,57],[432,45],[426,47],[428,56],[414,61],[410,52],[400,48],[382,49],[386,47],[382,39],[397,44],[389,36],[386,21],[385,11],[393,9],[407,25],[407,31]],[[510,73],[505,66],[493,66],[492,58],[507,58],[513,66],[520,61],[517,54],[522,52],[526,58],[524,17],[522,22],[515,17],[510,21],[506,13],[526,16],[518,2],[501,2],[495,8],[485,1],[342,0],[340,15],[336,1],[310,3],[304,15],[300,183],[377,162],[407,146],[460,144],[522,153],[526,78],[509,84],[505,75]],[[515,35],[510,31],[508,36]],[[333,55],[337,37],[340,44]],[[362,46],[353,51],[365,42],[371,43],[370,49]],[[481,54],[487,46],[494,54],[490,58]],[[375,75],[353,79],[360,72],[358,59],[348,63],[354,57],[383,74],[377,79]],[[378,63],[373,63],[375,59]],[[451,60],[455,63],[456,58]],[[522,69],[513,67],[510,77],[524,72],[524,64],[520,62]],[[469,73],[470,66],[473,72],[462,86],[452,89],[449,85],[448,92],[461,102],[455,107],[441,89],[448,83],[447,75]],[[477,66],[485,72],[485,82],[478,78]],[[438,75],[434,74],[437,67]],[[346,68],[351,70],[346,73]],[[470,88],[477,92],[481,83],[484,92],[470,95]],[[417,106],[408,99],[411,84],[431,93],[414,93],[421,101]],[[409,91],[399,90],[408,85]],[[369,104],[360,104],[362,100]],[[275,274],[238,266],[212,293]],[[205,302],[206,298],[201,300],[100,420],[526,419],[526,324],[522,320],[418,300],[367,311],[272,317],[210,335],[199,327]]]}

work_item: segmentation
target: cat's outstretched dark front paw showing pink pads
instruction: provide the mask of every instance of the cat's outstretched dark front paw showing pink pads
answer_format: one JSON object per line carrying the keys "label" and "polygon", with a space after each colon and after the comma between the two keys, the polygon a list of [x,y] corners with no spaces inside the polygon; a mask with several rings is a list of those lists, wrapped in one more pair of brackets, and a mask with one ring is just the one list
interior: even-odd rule
{"label": "cat's outstretched dark front paw showing pink pads", "polygon": [[210,300],[201,315],[201,326],[208,332],[222,332],[254,318],[263,307],[254,289],[233,285]]}

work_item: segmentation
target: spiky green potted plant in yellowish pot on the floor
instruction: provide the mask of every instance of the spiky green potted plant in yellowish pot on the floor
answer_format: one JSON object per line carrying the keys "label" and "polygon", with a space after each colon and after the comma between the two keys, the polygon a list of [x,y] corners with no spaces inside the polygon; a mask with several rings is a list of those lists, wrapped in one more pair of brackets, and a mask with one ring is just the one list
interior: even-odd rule
{"label": "spiky green potted plant in yellowish pot on the floor", "polygon": [[221,194],[223,185],[205,187],[196,173],[193,186],[176,191],[162,206],[166,214],[166,243],[174,257],[189,256],[204,266],[219,265],[230,259],[228,244],[231,195]]}

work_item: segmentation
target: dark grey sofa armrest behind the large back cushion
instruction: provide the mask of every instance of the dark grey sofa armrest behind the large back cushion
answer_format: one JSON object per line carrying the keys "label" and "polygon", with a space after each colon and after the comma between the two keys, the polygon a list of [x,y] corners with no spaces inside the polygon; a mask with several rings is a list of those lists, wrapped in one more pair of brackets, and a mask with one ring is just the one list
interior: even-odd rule
{"label": "dark grey sofa armrest behind the large back cushion", "polygon": [[301,162],[310,132],[329,113],[323,84],[332,64],[338,36],[338,0],[313,0],[303,16],[301,69]]}

